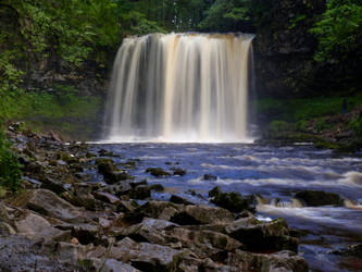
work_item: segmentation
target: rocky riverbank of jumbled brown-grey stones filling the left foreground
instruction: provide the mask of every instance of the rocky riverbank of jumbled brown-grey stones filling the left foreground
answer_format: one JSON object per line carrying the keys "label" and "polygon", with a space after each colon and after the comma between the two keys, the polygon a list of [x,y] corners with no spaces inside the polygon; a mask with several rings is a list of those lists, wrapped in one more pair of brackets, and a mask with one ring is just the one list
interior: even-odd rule
{"label": "rocky riverbank of jumbled brown-grey stones filling the left foreground", "polygon": [[176,196],[157,201],[151,193],[162,185],[128,174],[137,160],[114,163],[105,150],[91,153],[17,125],[8,135],[24,175],[20,193],[0,203],[2,270],[308,271],[283,219],[262,222],[244,209]]}

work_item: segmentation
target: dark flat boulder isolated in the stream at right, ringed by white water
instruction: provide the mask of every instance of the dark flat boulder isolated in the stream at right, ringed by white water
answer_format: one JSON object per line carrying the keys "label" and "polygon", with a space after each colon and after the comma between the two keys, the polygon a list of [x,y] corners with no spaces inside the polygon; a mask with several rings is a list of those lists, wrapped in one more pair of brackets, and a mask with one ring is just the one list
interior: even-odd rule
{"label": "dark flat boulder isolated in the stream at right, ringed by white water", "polygon": [[341,206],[344,200],[338,194],[323,190],[301,190],[296,194],[296,198],[302,200],[307,206]]}

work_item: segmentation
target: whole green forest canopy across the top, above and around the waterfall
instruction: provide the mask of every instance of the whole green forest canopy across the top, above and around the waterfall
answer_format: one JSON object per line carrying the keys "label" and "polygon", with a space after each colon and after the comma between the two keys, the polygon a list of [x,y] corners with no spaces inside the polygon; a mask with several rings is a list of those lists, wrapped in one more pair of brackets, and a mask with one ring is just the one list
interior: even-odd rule
{"label": "whole green forest canopy across the top, above and around the waterfall", "polygon": [[104,63],[124,37],[154,32],[263,32],[277,38],[282,27],[292,33],[303,26],[319,45],[317,62],[360,61],[361,2],[327,0],[322,13],[319,2],[297,1],[310,14],[296,11],[277,23],[282,2],[272,0],[0,0],[0,77],[9,87],[32,63],[55,70]]}

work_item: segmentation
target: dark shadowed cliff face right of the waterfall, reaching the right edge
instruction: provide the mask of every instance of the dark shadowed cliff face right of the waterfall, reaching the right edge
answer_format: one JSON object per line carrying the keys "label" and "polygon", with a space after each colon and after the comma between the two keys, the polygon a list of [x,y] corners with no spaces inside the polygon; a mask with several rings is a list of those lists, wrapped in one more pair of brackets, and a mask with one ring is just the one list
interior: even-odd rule
{"label": "dark shadowed cliff face right of the waterfall, reaching the right edge", "polygon": [[325,0],[273,1],[254,40],[259,97],[347,96],[361,90],[361,58],[314,61],[317,40],[310,29],[325,9]]}

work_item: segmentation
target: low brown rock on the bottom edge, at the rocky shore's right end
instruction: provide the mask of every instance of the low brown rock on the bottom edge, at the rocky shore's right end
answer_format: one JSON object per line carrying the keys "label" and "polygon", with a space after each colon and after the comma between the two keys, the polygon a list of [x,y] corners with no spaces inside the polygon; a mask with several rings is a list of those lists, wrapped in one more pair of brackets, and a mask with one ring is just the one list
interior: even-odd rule
{"label": "low brown rock on the bottom edge, at the rocky shore's right end", "polygon": [[250,254],[236,250],[228,255],[225,261],[228,265],[237,268],[236,271],[270,271],[270,272],[308,272],[307,261],[291,251],[280,251],[274,255]]}

